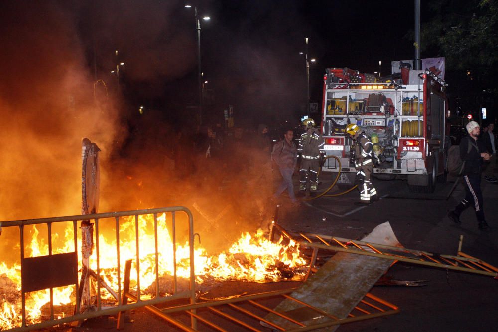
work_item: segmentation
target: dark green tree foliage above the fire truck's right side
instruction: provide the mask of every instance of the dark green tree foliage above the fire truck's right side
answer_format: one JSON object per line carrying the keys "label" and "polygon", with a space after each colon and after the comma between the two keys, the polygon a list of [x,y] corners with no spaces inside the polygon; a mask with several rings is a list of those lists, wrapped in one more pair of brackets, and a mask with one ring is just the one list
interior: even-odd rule
{"label": "dark green tree foliage above the fire truck's right side", "polygon": [[496,109],[498,0],[431,0],[428,7],[422,52],[445,57],[449,92],[465,109]]}

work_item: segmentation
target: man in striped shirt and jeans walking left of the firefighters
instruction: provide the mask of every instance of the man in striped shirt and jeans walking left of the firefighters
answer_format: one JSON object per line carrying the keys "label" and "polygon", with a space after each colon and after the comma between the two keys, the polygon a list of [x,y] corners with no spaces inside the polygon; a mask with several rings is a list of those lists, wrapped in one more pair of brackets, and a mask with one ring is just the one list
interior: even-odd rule
{"label": "man in striped shirt and jeans walking left of the firefighters", "polygon": [[294,195],[294,185],[292,183],[292,174],[294,174],[297,164],[297,149],[292,141],[293,138],[294,132],[289,129],[285,132],[284,139],[273,146],[271,160],[277,164],[282,175],[282,183],[278,186],[273,197],[276,199],[287,189],[292,206],[298,206],[299,202]]}

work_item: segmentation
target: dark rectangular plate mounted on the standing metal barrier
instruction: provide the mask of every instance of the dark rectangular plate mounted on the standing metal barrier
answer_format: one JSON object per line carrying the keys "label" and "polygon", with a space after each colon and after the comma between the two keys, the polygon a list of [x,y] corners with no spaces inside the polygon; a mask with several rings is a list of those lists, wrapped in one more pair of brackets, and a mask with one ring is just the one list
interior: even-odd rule
{"label": "dark rectangular plate mounted on the standing metal barrier", "polygon": [[74,285],[78,276],[76,252],[24,258],[21,264],[24,293]]}

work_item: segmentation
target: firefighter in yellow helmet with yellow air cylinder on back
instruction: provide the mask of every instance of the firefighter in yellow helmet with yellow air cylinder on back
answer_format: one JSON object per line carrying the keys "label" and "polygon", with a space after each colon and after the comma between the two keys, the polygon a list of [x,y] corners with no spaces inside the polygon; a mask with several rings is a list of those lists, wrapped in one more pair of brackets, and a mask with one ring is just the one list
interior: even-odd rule
{"label": "firefighter in yellow helmet with yellow air cylinder on back", "polygon": [[360,130],[356,124],[350,123],[346,126],[346,134],[354,141],[351,147],[352,159],[356,168],[356,183],[360,191],[360,204],[370,204],[377,201],[377,191],[372,185],[371,174],[375,155],[370,138]]}

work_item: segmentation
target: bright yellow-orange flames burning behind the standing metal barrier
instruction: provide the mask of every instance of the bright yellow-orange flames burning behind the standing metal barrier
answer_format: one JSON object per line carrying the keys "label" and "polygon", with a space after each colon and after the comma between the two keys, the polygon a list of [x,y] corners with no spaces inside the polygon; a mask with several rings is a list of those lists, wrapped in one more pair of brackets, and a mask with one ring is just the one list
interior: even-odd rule
{"label": "bright yellow-orange flames burning behind the standing metal barrier", "polygon": [[[138,216],[138,236],[139,236],[139,263],[140,263],[140,290],[141,294],[147,296],[150,285],[155,283],[155,237],[154,219],[152,215]],[[100,252],[100,274],[103,280],[116,292],[118,291],[118,270],[116,259],[116,237],[104,235],[102,229],[107,227],[106,220],[99,221],[99,252]],[[64,239],[63,245],[53,245],[53,253],[63,253],[74,251],[74,237],[72,224],[68,223],[64,230],[64,235],[53,234],[52,242]],[[127,259],[134,259],[137,248],[135,247],[135,220],[134,217],[120,219],[120,266],[121,281],[124,278],[124,263]],[[111,234],[111,233],[109,233]],[[115,234],[115,230],[114,230]],[[33,227],[32,240],[27,246],[26,256],[36,257],[48,254],[48,244],[46,240],[39,238],[39,231]],[[94,232],[95,237],[95,232]],[[161,277],[171,277],[173,275],[173,240],[167,227],[166,215],[157,217],[157,245],[158,245],[158,274]],[[94,239],[95,241],[95,239]],[[189,244],[176,244],[176,275],[178,278],[188,279],[189,269]],[[96,271],[96,249],[90,257],[90,266]],[[81,241],[78,239],[78,253],[81,252]],[[253,282],[274,281],[282,278],[282,267],[292,269],[297,274],[303,274],[303,267],[306,261],[300,256],[299,246],[290,241],[283,243],[280,238],[278,243],[273,243],[264,237],[261,229],[251,236],[244,233],[233,243],[230,248],[218,255],[209,255],[207,251],[197,245],[194,250],[195,275],[197,284],[203,284],[207,280],[246,280]],[[81,265],[79,266],[81,268]],[[136,269],[131,269],[130,284],[137,285]],[[10,297],[6,295],[6,290],[2,288],[2,283],[9,281]],[[95,284],[95,282],[94,282]],[[0,262],[0,329],[9,329],[20,326],[21,323],[21,301],[20,301],[20,265],[7,266]],[[147,288],[149,287],[149,289]],[[12,296],[14,292],[15,296]],[[75,287],[54,288],[54,305],[68,305],[75,302]],[[3,294],[5,293],[5,294]],[[169,293],[162,291],[161,293]],[[117,301],[112,295],[101,289],[102,298],[108,303],[116,304]],[[42,307],[50,302],[49,290],[26,293],[26,320],[28,324],[33,324],[43,320]],[[74,307],[73,307],[74,310]],[[46,314],[45,314],[46,315]]]}

